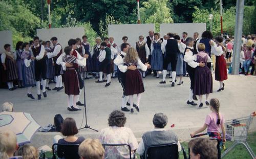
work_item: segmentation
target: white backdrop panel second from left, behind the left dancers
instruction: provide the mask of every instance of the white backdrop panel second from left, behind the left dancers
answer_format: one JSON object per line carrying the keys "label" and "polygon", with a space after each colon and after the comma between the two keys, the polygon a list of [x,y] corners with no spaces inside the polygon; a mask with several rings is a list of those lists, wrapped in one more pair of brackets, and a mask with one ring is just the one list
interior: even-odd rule
{"label": "white backdrop panel second from left, behind the left dancers", "polygon": [[74,28],[52,28],[52,29],[37,29],[37,36],[44,41],[50,40],[53,36],[58,38],[58,42],[62,48],[68,46],[68,41],[71,38],[82,38],[84,35],[83,27]]}

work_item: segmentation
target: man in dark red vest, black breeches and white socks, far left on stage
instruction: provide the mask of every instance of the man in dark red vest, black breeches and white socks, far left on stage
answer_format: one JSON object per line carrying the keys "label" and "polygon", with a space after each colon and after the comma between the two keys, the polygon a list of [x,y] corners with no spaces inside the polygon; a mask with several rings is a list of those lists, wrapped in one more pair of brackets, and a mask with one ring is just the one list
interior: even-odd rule
{"label": "man in dark red vest, black breeches and white socks, far left on stage", "polygon": [[[37,89],[37,98],[41,99],[40,93],[40,79],[42,84],[42,94],[47,97],[46,94],[46,57],[45,57],[45,47],[39,44],[39,37],[34,37],[34,44],[31,47],[33,59],[35,60],[35,81]],[[33,60],[32,59],[32,60]]]}

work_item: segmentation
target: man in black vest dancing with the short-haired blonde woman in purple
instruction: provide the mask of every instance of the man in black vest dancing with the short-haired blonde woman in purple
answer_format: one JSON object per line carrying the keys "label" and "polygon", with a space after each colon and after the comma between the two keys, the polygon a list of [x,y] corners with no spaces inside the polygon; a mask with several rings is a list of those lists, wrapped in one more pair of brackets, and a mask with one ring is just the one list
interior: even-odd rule
{"label": "man in black vest dancing with the short-haired blonde woman in purple", "polygon": [[194,79],[195,79],[195,68],[197,66],[201,66],[203,67],[205,64],[203,62],[196,62],[193,60],[193,55],[196,55],[196,52],[193,48],[194,46],[194,39],[191,37],[188,37],[186,39],[186,45],[187,48],[185,49],[185,56],[184,56],[184,61],[186,62],[186,71],[189,75],[189,79],[190,79],[190,89],[189,89],[189,96],[188,96],[188,100],[187,100],[187,104],[190,105],[197,105],[194,100],[197,100],[196,96],[193,96],[193,89],[194,89]]}

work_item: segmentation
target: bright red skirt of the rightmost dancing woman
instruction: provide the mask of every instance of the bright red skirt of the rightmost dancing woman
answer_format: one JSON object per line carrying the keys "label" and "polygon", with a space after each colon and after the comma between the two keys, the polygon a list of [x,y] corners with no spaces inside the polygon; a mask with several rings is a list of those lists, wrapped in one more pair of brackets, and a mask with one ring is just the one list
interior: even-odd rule
{"label": "bright red skirt of the rightmost dancing woman", "polygon": [[216,56],[215,80],[224,81],[227,79],[227,65],[223,55]]}

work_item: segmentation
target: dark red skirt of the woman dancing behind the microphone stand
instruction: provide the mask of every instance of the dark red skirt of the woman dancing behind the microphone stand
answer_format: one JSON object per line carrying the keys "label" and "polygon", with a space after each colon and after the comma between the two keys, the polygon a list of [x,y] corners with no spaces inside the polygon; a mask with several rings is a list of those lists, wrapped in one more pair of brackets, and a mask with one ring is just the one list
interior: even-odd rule
{"label": "dark red skirt of the woman dancing behind the microphone stand", "polygon": [[67,69],[64,74],[65,94],[79,95],[79,80],[75,69]]}

